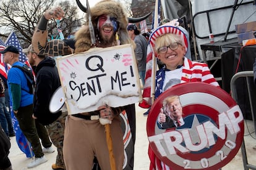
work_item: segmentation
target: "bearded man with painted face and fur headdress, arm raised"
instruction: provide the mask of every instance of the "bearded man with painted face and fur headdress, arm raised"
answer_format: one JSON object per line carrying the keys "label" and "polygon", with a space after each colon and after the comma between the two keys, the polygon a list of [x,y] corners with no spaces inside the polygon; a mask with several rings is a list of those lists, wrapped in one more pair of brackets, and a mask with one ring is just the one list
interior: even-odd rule
{"label": "bearded man with painted face and fur headdress, arm raised", "polygon": [[[127,17],[119,2],[109,0],[98,2],[92,7],[91,12],[97,47],[111,47],[119,44],[133,43],[126,30],[128,24]],[[59,7],[46,10],[45,14],[41,17],[32,39],[33,47],[38,54],[49,56],[67,55],[71,52],[87,51],[92,47],[87,24],[77,31],[75,39],[54,39],[47,42],[48,33],[46,27],[48,20],[61,17],[64,17],[64,11]],[[118,36],[119,39],[116,39],[116,36]],[[104,105],[98,108],[101,117],[106,117],[112,121],[111,136],[113,138],[116,169],[122,169],[124,161],[122,130],[118,117],[119,113],[124,109],[126,112],[130,112],[130,116],[132,116],[134,121],[134,134],[132,134],[134,136],[132,136],[132,138],[135,142],[134,105],[118,108],[111,108]],[[108,116],[106,112],[110,112],[111,116]],[[104,126],[102,126],[98,120],[88,119],[90,115],[95,114],[97,114],[97,111],[68,116],[63,149],[67,169],[92,169],[93,157],[95,155],[102,169],[111,169],[109,155],[106,154],[108,153],[108,148],[106,145]],[[128,113],[127,115],[129,117]]]}

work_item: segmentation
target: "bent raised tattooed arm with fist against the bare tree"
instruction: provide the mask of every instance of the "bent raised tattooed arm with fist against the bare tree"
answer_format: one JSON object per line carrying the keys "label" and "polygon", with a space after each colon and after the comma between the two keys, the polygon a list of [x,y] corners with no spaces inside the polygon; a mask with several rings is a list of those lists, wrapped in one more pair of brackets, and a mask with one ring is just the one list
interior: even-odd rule
{"label": "bent raised tattooed arm with fist against the bare tree", "polygon": [[64,11],[61,7],[54,7],[53,9],[46,10],[40,18],[32,38],[33,48],[38,55],[59,56],[72,53],[72,48],[70,48],[70,45],[65,40],[53,39],[48,41],[48,20],[63,17]]}

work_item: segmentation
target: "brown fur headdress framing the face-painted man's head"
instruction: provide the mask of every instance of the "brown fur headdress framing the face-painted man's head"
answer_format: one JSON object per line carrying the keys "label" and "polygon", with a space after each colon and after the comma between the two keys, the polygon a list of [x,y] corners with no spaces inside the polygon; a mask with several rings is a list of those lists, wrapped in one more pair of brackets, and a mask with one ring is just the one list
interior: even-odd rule
{"label": "brown fur headdress framing the face-painted man's head", "polygon": [[[98,17],[100,15],[110,15],[110,17],[115,17],[119,23],[119,29],[117,30],[118,38],[121,44],[130,44],[132,40],[129,38],[126,27],[128,25],[127,16],[124,13],[124,9],[119,2],[111,0],[103,0],[95,4],[91,8],[92,23],[93,27],[97,28]],[[86,26],[80,28],[75,34],[75,52],[83,52],[90,49],[90,33],[86,23]],[[95,30],[95,33],[98,31]]]}

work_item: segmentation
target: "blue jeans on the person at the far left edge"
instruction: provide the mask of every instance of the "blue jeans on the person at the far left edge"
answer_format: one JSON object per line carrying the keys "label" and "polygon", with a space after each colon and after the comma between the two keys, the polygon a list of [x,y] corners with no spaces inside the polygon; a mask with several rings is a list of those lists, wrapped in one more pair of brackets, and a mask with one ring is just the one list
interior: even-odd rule
{"label": "blue jeans on the person at the far left edge", "polygon": [[12,118],[9,111],[6,109],[5,97],[0,97],[0,123],[6,135],[14,133],[14,127],[12,126]]}

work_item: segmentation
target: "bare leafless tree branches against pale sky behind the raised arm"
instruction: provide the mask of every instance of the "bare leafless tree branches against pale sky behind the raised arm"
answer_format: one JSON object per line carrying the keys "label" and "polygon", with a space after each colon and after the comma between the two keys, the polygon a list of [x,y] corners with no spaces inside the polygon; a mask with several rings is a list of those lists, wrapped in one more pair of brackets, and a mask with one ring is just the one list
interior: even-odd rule
{"label": "bare leafless tree branches against pale sky behind the raised arm", "polygon": [[[33,31],[45,10],[54,7],[56,0],[2,0],[0,2],[0,37],[7,38],[12,30],[17,38],[30,44]],[[69,1],[61,1],[58,6],[66,12],[61,20],[61,28],[65,37],[74,30],[78,21],[77,6],[72,6]],[[58,36],[56,21],[51,20],[48,26],[49,37]]]}

